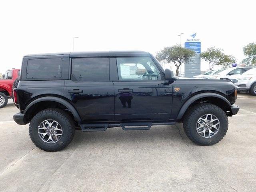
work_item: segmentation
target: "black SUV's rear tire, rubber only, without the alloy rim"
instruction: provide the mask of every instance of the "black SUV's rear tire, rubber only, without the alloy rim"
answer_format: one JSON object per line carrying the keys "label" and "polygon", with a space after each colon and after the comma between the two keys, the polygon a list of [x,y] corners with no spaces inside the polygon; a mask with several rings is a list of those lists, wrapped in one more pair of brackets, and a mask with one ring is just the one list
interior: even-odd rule
{"label": "black SUV's rear tire, rubber only, without the alloy rim", "polygon": [[[38,135],[38,126],[47,119],[56,120],[62,127],[62,137],[56,143],[46,143]],[[32,142],[44,151],[60,151],[72,141],[75,134],[74,120],[64,110],[49,108],[38,112],[29,125],[29,135]]]}

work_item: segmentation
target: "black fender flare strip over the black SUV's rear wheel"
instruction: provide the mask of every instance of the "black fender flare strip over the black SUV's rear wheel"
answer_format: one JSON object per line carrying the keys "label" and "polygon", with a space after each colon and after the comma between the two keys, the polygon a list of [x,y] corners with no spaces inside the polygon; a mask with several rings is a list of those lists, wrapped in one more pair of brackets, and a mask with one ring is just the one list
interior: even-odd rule
{"label": "black fender flare strip over the black SUV's rear wheel", "polygon": [[69,102],[67,102],[66,100],[59,98],[59,97],[53,97],[53,96],[45,96],[45,97],[40,97],[35,99],[34,101],[32,101],[30,104],[28,104],[28,106],[26,107],[26,109],[24,110],[24,114],[26,114],[26,112],[29,110],[30,107],[32,107],[34,104],[38,103],[38,102],[42,102],[42,101],[54,101],[54,102],[58,102],[64,106],[66,106],[66,108],[68,108],[68,110],[72,113],[72,115],[74,116],[75,120],[77,122],[81,122],[81,118],[80,115],[78,114],[78,112],[76,111],[76,108],[74,108],[74,106],[72,106],[72,104],[70,104]]}

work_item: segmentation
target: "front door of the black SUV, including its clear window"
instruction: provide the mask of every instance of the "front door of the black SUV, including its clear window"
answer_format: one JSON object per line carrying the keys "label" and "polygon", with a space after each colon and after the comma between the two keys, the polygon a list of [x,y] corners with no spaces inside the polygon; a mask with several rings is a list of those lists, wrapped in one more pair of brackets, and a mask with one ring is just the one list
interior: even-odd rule
{"label": "front door of the black SUV, including its clear window", "polygon": [[172,84],[164,80],[150,57],[116,58],[115,121],[168,120]]}

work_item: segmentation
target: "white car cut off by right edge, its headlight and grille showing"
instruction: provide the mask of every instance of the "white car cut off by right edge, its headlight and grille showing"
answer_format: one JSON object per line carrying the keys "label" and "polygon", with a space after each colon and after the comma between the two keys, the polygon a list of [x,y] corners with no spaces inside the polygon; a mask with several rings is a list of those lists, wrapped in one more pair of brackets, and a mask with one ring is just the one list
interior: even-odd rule
{"label": "white car cut off by right edge, its headlight and grille showing", "polygon": [[242,75],[235,75],[230,80],[238,87],[238,91],[256,95],[256,68],[252,68]]}

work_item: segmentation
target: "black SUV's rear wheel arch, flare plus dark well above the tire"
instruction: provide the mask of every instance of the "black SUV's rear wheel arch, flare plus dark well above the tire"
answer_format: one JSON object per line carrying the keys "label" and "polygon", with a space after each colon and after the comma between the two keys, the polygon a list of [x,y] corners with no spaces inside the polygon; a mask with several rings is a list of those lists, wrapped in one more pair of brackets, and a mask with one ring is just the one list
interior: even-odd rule
{"label": "black SUV's rear wheel arch, flare plus dark well above the tire", "polygon": [[63,110],[66,110],[76,122],[81,122],[80,115],[78,114],[76,108],[72,104],[70,104],[68,101],[54,97],[54,96],[44,96],[37,98],[36,100],[33,100],[24,110],[24,120],[26,122],[30,122],[30,120],[33,118],[33,116],[38,113],[41,110],[44,110],[46,108],[60,108]]}

